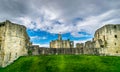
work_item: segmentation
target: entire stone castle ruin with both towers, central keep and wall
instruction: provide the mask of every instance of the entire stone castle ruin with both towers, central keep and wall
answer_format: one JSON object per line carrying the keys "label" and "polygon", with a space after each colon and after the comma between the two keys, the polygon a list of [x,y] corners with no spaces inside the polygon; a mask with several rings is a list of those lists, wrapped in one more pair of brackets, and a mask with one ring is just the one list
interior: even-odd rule
{"label": "entire stone castle ruin with both towers, central keep and wall", "polygon": [[108,24],[99,28],[91,41],[77,43],[62,40],[50,42],[50,48],[31,45],[26,27],[6,20],[0,23],[0,67],[5,67],[20,56],[40,54],[92,54],[120,56],[120,24]]}

